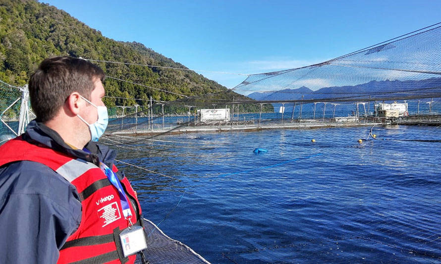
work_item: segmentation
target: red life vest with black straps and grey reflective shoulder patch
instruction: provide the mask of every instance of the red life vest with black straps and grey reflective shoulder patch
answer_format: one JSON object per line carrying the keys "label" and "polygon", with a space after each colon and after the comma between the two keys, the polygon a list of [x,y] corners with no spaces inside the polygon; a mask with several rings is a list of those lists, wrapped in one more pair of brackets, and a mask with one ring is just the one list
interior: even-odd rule
{"label": "red life vest with black straps and grey reflective shoulder patch", "polygon": [[[41,144],[28,143],[21,136],[8,141],[1,149],[7,155],[1,158],[0,166],[19,160],[40,162],[68,180],[78,191],[82,205],[81,223],[67,238],[57,263],[134,263],[135,255],[124,258],[120,250],[119,233],[128,227],[128,221],[122,214],[118,191],[100,167]],[[117,168],[113,165],[112,170],[116,172]],[[141,207],[136,193],[126,177],[120,182],[132,201],[129,203],[131,221],[141,224],[138,220],[142,219]]]}

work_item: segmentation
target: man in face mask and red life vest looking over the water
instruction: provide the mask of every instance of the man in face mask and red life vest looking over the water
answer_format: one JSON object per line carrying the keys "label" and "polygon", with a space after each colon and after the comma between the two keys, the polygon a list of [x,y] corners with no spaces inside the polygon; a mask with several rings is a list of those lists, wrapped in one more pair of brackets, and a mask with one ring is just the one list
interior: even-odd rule
{"label": "man in face mask and red life vest looking over the water", "polygon": [[0,148],[1,263],[133,263],[143,249],[136,193],[95,142],[108,122],[104,77],[68,56],[30,77],[37,118]]}

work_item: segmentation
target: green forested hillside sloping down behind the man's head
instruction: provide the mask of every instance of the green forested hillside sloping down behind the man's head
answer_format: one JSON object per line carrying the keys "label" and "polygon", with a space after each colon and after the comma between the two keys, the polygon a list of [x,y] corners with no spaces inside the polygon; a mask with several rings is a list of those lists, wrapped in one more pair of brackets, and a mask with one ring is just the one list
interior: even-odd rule
{"label": "green forested hillside sloping down behind the man's head", "polygon": [[[148,44],[147,44],[148,45]],[[96,60],[120,61],[185,68],[140,43],[118,42],[104,37],[54,6],[35,0],[0,0],[0,79],[21,86],[41,60],[54,55],[71,55]],[[98,63],[106,75],[186,96],[217,94],[217,98],[243,99],[244,96],[193,71],[136,65]],[[106,80],[108,96],[174,101],[175,94],[151,88]],[[146,101],[106,98],[108,106],[146,105]],[[248,109],[252,110],[252,109]]]}

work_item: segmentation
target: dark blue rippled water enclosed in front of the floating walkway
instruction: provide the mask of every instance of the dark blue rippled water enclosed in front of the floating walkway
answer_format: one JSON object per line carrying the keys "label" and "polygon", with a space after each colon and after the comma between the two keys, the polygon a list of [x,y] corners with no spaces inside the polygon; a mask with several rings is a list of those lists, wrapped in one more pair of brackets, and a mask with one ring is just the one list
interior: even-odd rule
{"label": "dark blue rippled water enclosed in front of the floating walkway", "polygon": [[374,127],[378,140],[365,140],[369,129],[167,135],[119,149],[178,180],[118,165],[144,217],[212,263],[439,262],[440,128]]}

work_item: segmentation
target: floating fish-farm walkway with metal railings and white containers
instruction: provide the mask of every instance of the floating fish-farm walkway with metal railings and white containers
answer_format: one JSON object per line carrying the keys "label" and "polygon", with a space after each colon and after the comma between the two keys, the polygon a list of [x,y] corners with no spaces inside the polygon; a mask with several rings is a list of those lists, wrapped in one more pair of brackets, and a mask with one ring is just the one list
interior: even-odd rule
{"label": "floating fish-farm walkway with metal railings and white containers", "polygon": [[[239,113],[225,105],[225,108],[197,109],[191,112],[188,107],[187,115],[165,115],[162,113],[153,114],[149,110],[144,117],[137,114],[115,118],[109,122],[108,134],[115,135],[159,135],[159,134],[180,134],[197,132],[227,132],[227,131],[259,131],[270,129],[318,129],[338,127],[361,127],[374,125],[441,125],[441,112],[433,109],[433,99],[430,101],[429,111],[420,111],[420,101],[412,103],[409,111],[408,101],[397,103],[396,101],[355,101],[343,108],[339,102],[308,102],[309,105],[300,102],[291,104],[289,110],[285,109],[284,102],[274,102],[274,110],[262,112],[262,106],[267,102],[260,103],[260,112]],[[371,104],[373,106],[371,107]],[[318,109],[321,105],[321,109]],[[333,107],[326,108],[327,104]],[[336,106],[340,105],[339,111]],[[366,107],[367,105],[367,107]],[[308,111],[305,111],[305,107]],[[370,108],[371,107],[371,108]],[[153,108],[153,107],[152,107]],[[277,111],[278,108],[278,111]],[[303,112],[302,112],[303,108]],[[343,109],[342,109],[343,108]],[[421,107],[422,108],[422,107]],[[328,112],[326,112],[328,109]]]}

